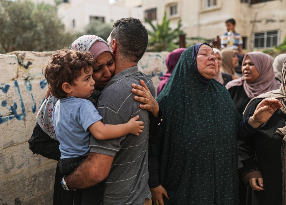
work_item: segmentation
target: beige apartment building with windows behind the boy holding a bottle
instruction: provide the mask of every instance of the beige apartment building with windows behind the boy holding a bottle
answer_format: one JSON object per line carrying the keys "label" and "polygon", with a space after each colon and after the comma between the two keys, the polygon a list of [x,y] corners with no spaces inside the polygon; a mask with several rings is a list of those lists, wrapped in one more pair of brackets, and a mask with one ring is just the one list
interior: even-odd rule
{"label": "beige apartment building with windows behind the boy holding a bottle", "polygon": [[234,18],[247,51],[273,48],[286,35],[285,0],[142,0],[142,10],[153,22],[160,22],[166,11],[171,27],[182,19],[186,37],[207,40],[221,36],[225,21]]}

